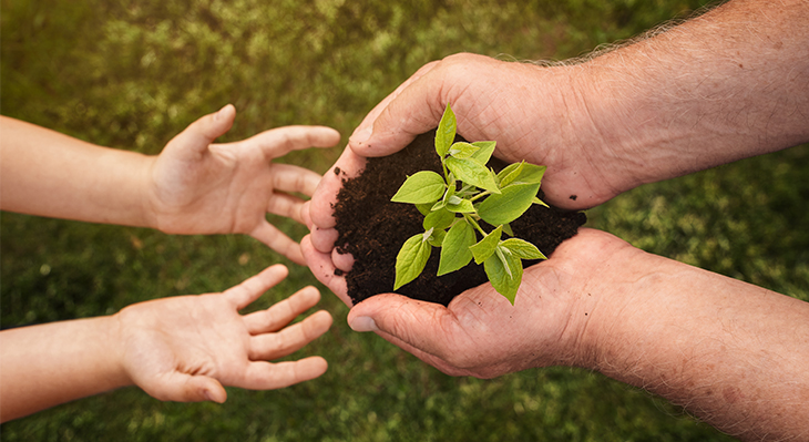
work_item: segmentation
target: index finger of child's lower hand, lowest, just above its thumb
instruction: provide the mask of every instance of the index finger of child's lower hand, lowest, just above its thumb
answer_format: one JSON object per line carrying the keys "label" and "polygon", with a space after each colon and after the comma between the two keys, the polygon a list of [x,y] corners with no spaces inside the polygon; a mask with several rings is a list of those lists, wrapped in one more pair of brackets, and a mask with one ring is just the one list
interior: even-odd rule
{"label": "index finger of child's lower hand, lowest, just above its thumb", "polygon": [[249,390],[275,390],[315,379],[326,372],[328,363],[319,356],[293,362],[250,362],[245,380],[238,386]]}

